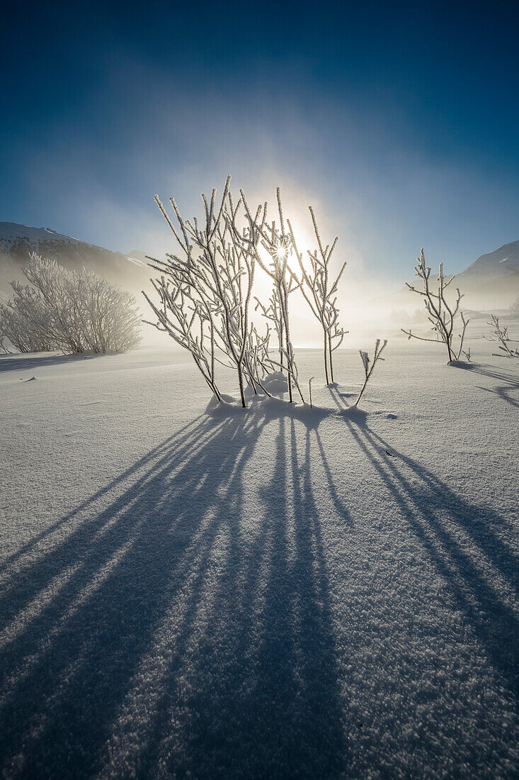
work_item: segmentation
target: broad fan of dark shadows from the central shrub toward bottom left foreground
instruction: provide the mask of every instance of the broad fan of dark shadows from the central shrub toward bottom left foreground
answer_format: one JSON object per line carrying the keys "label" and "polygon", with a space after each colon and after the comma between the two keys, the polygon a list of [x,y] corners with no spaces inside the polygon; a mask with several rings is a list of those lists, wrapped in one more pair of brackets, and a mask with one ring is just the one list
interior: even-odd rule
{"label": "broad fan of dark shadows from the central shrub toward bottom left foreground", "polygon": [[[247,518],[245,466],[267,424],[275,463]],[[107,488],[12,561],[5,773],[339,775],[328,576],[295,421],[203,418],[111,489],[108,506]]]}

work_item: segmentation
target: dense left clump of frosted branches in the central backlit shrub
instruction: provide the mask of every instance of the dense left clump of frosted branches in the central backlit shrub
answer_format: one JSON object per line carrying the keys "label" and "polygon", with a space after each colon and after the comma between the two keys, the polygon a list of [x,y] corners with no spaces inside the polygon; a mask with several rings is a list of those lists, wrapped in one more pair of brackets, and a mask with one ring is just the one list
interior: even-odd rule
{"label": "dense left clump of frosted branches in the central backlit shrub", "polygon": [[178,222],[175,229],[161,200],[155,197],[181,251],[168,255],[166,262],[150,260],[151,268],[161,273],[160,278],[151,280],[159,303],[150,300],[147,293],[143,295],[157,317],[150,324],[167,332],[191,353],[219,401],[222,396],[216,382],[216,363],[237,371],[242,406],[246,406],[245,387],[250,385],[256,391],[262,384],[265,371],[261,356],[267,355],[268,359],[268,333],[266,341],[259,337],[249,318],[255,258],[231,226],[240,201],[235,207],[229,192],[230,178],[219,204],[216,190],[209,202],[202,196],[205,220],[201,225],[196,218],[184,220],[170,198]]}

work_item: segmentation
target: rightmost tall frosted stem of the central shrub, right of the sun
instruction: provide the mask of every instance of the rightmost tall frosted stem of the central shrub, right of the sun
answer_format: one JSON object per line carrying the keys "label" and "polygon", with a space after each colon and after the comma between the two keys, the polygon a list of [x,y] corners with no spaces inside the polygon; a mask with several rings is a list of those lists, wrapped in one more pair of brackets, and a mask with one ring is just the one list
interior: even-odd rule
{"label": "rightmost tall frosted stem of the central shrub, right of the sun", "polygon": [[316,317],[323,328],[324,375],[327,385],[329,385],[330,381],[334,381],[334,363],[332,355],[334,350],[341,346],[345,333],[344,328],[341,328],[339,325],[337,285],[341,280],[344,268],[346,268],[346,263],[342,264],[341,271],[339,271],[337,278],[333,281],[333,277],[330,276],[330,259],[337,244],[337,236],[335,236],[331,246],[330,244],[327,244],[327,246],[323,247],[316,222],[316,215],[313,212],[312,206],[309,206],[309,211],[312,215],[313,229],[319,247],[319,253],[318,250],[315,250],[313,253],[307,250],[310,261],[309,271],[305,268],[302,253],[298,251],[298,247],[295,243],[294,231],[292,230],[289,219],[287,219],[287,224],[290,231],[291,248],[294,250],[295,257],[298,259],[299,268],[301,268],[301,292],[305,297],[305,301],[308,303],[313,316]]}

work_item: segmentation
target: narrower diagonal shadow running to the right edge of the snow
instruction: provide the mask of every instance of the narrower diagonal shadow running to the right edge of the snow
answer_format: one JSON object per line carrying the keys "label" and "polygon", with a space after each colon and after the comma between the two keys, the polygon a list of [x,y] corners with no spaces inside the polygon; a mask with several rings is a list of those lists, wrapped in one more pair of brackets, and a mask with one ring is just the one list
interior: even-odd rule
{"label": "narrower diagonal shadow running to the right edge of the snow", "polygon": [[[338,404],[340,397],[330,392]],[[443,576],[489,661],[519,697],[519,558],[502,535],[510,521],[488,507],[471,504],[424,466],[401,455],[369,428],[367,416],[351,415],[344,404],[343,410],[351,435]],[[500,594],[499,580],[506,583],[507,594]]]}

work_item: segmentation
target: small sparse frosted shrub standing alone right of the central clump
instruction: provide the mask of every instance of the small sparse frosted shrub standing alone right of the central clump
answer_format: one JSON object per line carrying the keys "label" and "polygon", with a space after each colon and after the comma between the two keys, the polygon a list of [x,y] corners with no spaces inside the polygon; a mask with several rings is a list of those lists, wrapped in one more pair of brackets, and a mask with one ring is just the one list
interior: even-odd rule
{"label": "small sparse frosted shrub standing alone right of the central clump", "polygon": [[[425,336],[418,336],[411,332],[401,328],[401,331],[408,336],[408,339],[419,339],[420,341],[430,342],[443,342],[447,347],[447,354],[449,356],[448,362],[453,360],[459,360],[461,351],[463,349],[463,341],[465,330],[468,325],[468,320],[465,319],[463,311],[460,310],[460,302],[463,298],[459,288],[456,289],[457,298],[454,302],[454,306],[451,305],[446,296],[447,287],[454,279],[454,276],[446,277],[443,274],[443,263],[440,263],[440,273],[436,281],[438,282],[437,292],[433,293],[430,284],[431,269],[425,264],[425,255],[423,247],[420,252],[420,257],[416,258],[417,264],[415,265],[415,276],[418,276],[422,280],[422,289],[417,289],[414,285],[406,285],[413,292],[423,296],[425,309],[428,313],[428,320],[433,325],[433,332],[436,333],[434,339],[425,338]],[[454,347],[454,328],[457,317],[461,318],[461,333],[457,334],[460,339],[457,348]]]}

